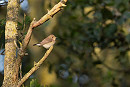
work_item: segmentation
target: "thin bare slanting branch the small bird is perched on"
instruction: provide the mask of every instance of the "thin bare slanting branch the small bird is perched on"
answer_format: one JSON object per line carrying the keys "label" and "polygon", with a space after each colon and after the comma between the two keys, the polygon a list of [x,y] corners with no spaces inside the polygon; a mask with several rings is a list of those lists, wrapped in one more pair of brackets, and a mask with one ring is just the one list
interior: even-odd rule
{"label": "thin bare slanting branch the small bird is perched on", "polygon": [[18,86],[17,87],[20,87],[40,67],[40,65],[45,61],[45,59],[51,53],[52,49],[53,49],[53,46],[51,46],[46,51],[46,53],[41,58],[41,60],[38,63],[34,64],[34,67],[28,73],[25,74],[25,76],[18,82]]}

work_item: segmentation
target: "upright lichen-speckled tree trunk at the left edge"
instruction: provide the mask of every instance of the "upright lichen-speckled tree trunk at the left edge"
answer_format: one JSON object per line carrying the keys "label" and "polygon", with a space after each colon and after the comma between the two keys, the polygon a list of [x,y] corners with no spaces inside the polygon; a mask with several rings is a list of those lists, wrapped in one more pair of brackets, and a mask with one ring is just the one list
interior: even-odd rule
{"label": "upright lichen-speckled tree trunk at the left edge", "polygon": [[19,11],[19,0],[8,0],[7,18],[5,26],[5,60],[4,81],[2,87],[16,87],[18,82],[18,69],[16,61],[17,20]]}

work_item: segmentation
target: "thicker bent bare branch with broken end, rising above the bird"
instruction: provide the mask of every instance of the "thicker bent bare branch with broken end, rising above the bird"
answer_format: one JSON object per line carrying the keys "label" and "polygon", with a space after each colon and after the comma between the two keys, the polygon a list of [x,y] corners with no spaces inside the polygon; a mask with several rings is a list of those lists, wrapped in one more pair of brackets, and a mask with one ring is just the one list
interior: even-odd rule
{"label": "thicker bent bare branch with broken end, rising above the bird", "polygon": [[[22,58],[25,55],[25,50],[27,48],[27,45],[30,41],[31,35],[32,35],[32,29],[43,24],[44,22],[46,22],[47,20],[49,20],[50,18],[52,18],[57,12],[59,12],[60,10],[62,10],[65,5],[65,3],[67,2],[67,0],[61,0],[58,4],[56,4],[50,11],[48,11],[48,13],[43,16],[39,21],[35,21],[35,18],[33,19],[33,21],[30,24],[30,27],[28,29],[28,32],[23,40],[22,43],[22,48],[20,48],[18,54],[20,57],[17,58],[17,60],[21,60],[19,58]],[[21,61],[19,61],[21,62]],[[19,63],[18,63],[19,64]]]}

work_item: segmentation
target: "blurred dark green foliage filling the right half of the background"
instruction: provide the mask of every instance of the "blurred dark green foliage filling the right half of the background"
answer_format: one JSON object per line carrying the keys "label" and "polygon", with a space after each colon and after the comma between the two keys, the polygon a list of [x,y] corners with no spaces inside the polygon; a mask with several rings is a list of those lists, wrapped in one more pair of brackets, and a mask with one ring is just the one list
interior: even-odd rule
{"label": "blurred dark green foliage filling the right half of the background", "polygon": [[[119,78],[125,78],[124,75],[121,77],[119,75],[125,72],[124,69],[130,71],[130,58],[127,56],[130,50],[129,8],[129,0],[69,0],[59,17],[58,26],[55,27],[58,32],[55,33],[60,37],[59,45],[65,46],[65,51],[68,53],[68,57],[62,63],[69,66],[71,73],[78,75],[86,73],[92,79],[96,81],[98,79],[97,82],[90,82],[89,86],[86,85],[87,87],[95,87],[92,84],[98,85],[100,82],[99,87],[106,87],[105,84],[119,87],[121,85]],[[107,56],[113,56],[114,53],[105,52],[103,55],[107,55],[106,57],[102,59],[96,57],[95,60],[95,56],[100,54],[95,53],[96,48],[100,49],[100,53],[104,50],[116,49],[116,56],[111,62],[116,61],[113,65],[119,66],[111,67],[111,69],[104,65],[109,60]],[[82,64],[74,67],[76,61],[72,61],[75,59],[70,55],[77,55]],[[98,65],[102,65],[109,72],[103,71],[104,68],[97,69]],[[129,79],[126,80],[129,81]],[[126,84],[130,86],[127,81]]]}

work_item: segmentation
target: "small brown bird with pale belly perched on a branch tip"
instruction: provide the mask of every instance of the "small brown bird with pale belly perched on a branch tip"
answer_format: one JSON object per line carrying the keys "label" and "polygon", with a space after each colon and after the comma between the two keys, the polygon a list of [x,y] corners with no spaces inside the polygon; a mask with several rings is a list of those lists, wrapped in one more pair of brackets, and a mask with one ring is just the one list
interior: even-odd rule
{"label": "small brown bird with pale belly perched on a branch tip", "polygon": [[37,46],[43,46],[44,48],[48,49],[50,48],[52,45],[55,44],[56,37],[51,34],[48,37],[46,37],[44,40],[42,40],[42,42],[34,44],[33,46],[37,45]]}

